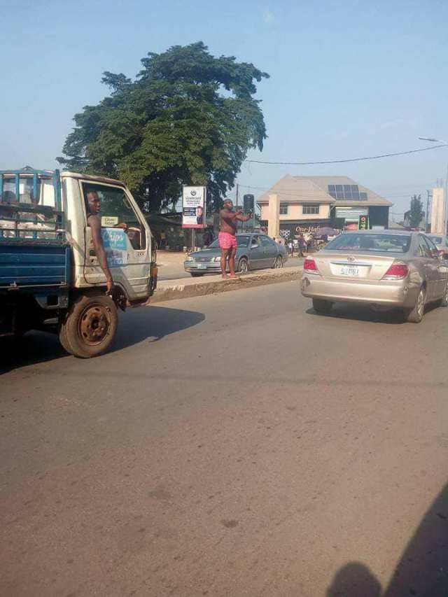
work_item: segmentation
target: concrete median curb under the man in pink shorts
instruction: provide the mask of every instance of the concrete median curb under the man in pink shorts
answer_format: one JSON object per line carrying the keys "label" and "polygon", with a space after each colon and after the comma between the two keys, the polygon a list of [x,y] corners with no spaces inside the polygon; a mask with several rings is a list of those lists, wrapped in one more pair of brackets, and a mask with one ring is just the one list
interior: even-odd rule
{"label": "concrete median curb under the man in pink shorts", "polygon": [[200,281],[196,283],[180,283],[173,281],[172,286],[159,286],[151,297],[151,303],[176,300],[180,298],[200,297],[214,295],[217,293],[228,293],[232,290],[244,290],[265,284],[275,284],[293,280],[299,280],[302,275],[302,267],[288,267],[273,272],[262,272],[260,274],[246,274],[238,276],[237,279],[214,279],[213,281]]}

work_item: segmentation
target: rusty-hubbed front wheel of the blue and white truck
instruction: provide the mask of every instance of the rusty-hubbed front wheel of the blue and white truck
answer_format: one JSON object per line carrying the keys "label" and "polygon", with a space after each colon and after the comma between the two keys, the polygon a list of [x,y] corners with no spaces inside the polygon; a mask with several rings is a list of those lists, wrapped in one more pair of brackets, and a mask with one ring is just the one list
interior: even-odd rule
{"label": "rusty-hubbed front wheel of the blue and white truck", "polygon": [[117,326],[117,307],[111,297],[84,295],[73,303],[60,335],[66,335],[66,344],[74,356],[92,358],[109,349]]}

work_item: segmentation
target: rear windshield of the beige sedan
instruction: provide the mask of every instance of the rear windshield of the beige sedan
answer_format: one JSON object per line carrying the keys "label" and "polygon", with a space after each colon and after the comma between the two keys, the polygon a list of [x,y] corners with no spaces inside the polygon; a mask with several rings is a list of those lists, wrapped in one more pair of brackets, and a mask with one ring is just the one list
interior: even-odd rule
{"label": "rear windshield of the beige sedan", "polygon": [[405,234],[341,234],[325,247],[329,251],[386,251],[407,253],[411,237]]}

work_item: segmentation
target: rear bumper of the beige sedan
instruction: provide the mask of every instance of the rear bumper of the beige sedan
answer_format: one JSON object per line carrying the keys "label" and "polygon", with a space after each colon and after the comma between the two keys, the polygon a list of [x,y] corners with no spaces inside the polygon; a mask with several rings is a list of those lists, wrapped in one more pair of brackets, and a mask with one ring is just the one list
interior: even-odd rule
{"label": "rear bumper of the beige sedan", "polygon": [[405,280],[328,279],[314,274],[303,274],[302,295],[332,302],[363,302],[391,307],[414,307],[417,286]]}

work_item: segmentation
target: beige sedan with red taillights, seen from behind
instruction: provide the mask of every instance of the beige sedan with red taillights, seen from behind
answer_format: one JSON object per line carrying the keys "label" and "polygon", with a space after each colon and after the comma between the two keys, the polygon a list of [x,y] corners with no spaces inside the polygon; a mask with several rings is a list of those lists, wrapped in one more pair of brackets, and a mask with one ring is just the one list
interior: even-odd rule
{"label": "beige sedan with red taillights, seen from behind", "polygon": [[448,306],[448,267],[425,234],[344,232],[305,259],[302,295],[319,313],[334,302],[354,302],[398,307],[407,321],[419,323],[425,304]]}

